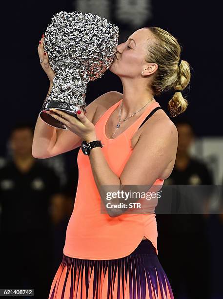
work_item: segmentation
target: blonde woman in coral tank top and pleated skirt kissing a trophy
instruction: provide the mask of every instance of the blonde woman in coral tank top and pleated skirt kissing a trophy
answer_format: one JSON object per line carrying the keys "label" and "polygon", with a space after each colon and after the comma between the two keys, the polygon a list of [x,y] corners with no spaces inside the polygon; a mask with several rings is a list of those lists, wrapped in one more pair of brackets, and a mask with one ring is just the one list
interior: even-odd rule
{"label": "blonde woman in coral tank top and pleated skirt kissing a trophy", "polygon": [[[55,76],[43,52],[38,52],[50,87]],[[78,153],[79,182],[61,265],[49,299],[174,298],[158,259],[155,214],[124,214],[107,209],[101,185],[161,185],[173,170],[177,129],[154,99],[170,89],[172,116],[187,107],[181,91],[189,84],[190,68],[180,59],[177,40],[158,27],[134,32],[117,47],[110,71],[120,77],[123,94],[108,92],[79,111],[76,119],[64,111],[46,111],[68,130],[37,120],[33,155],[47,158],[75,149],[82,141],[100,140],[85,155]],[[80,113],[80,114],[79,114]],[[120,201],[121,202],[121,201]],[[112,203],[119,203],[113,199]],[[154,205],[152,211],[155,209]]]}

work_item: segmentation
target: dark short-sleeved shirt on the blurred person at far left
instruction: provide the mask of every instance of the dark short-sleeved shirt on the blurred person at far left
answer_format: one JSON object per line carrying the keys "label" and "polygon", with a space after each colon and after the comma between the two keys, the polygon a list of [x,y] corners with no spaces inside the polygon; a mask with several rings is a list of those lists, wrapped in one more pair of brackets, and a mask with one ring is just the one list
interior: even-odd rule
{"label": "dark short-sleeved shirt on the blurred person at far left", "polygon": [[13,161],[0,169],[1,232],[44,231],[49,225],[50,196],[60,192],[55,172],[36,161],[21,172]]}

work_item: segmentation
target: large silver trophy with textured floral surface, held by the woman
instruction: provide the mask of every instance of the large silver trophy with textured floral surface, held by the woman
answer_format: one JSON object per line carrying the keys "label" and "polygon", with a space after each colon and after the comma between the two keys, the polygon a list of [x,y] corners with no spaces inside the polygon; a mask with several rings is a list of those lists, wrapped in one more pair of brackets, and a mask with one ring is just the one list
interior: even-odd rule
{"label": "large silver trophy with textured floral surface, held by the woman", "polygon": [[53,16],[44,35],[43,47],[56,75],[40,117],[53,127],[67,129],[42,111],[56,108],[77,117],[82,109],[86,115],[87,83],[101,78],[113,63],[119,29],[97,14],[61,11]]}

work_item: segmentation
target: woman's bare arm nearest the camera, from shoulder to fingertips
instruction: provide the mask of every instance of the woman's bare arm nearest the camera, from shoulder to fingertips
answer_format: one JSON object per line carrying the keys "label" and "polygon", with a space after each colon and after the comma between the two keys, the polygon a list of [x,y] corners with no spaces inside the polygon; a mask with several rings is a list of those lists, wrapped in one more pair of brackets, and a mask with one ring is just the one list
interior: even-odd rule
{"label": "woman's bare arm nearest the camera, from shoulder to fingertips", "polygon": [[[87,142],[98,140],[94,124],[83,113],[77,114],[79,122],[78,119],[64,111],[50,110],[57,112],[50,112],[51,116],[78,134],[82,140]],[[101,185],[116,185],[118,190],[120,184],[152,186],[176,157],[177,144],[178,134],[175,125],[167,119],[159,120],[156,126],[153,126],[152,131],[144,129],[120,177],[110,169],[100,147],[91,149],[89,154],[91,168],[105,207],[108,201]],[[118,198],[114,198],[111,203],[118,204],[119,202]],[[111,217],[123,213],[118,209],[108,209],[107,211]]]}

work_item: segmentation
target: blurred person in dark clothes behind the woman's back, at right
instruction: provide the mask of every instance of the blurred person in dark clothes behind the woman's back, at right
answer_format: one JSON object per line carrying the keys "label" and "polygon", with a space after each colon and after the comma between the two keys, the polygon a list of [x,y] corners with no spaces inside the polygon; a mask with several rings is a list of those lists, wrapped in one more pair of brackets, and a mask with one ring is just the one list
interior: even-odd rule
{"label": "blurred person in dark clothes behind the woman's back, at right", "polygon": [[[175,125],[179,138],[177,156],[174,169],[164,184],[212,185],[213,175],[205,163],[191,157],[189,153],[195,140],[192,124],[186,119],[180,119],[175,122]],[[207,188],[207,190],[209,192],[210,189]],[[176,202],[179,204],[183,200],[182,194],[178,192],[175,195]],[[156,215],[160,228],[159,241],[163,244],[161,245],[161,260],[166,272],[172,278],[172,288],[177,299],[185,298],[185,295],[188,299],[211,298],[211,253],[207,236],[207,217],[208,214]],[[168,248],[164,248],[167,240],[171,242]],[[190,253],[189,256],[188,253]],[[178,262],[172,262],[174,257]],[[184,271],[181,270],[182,268]]]}

